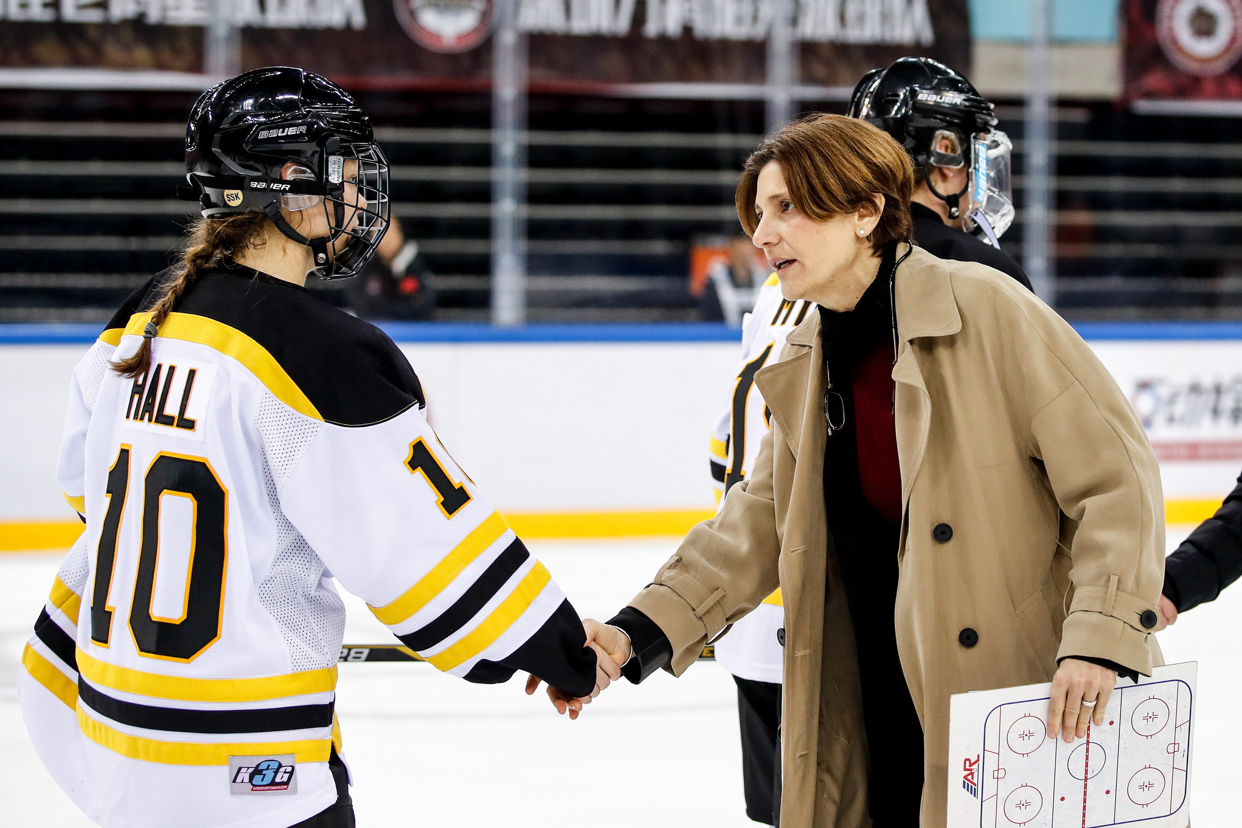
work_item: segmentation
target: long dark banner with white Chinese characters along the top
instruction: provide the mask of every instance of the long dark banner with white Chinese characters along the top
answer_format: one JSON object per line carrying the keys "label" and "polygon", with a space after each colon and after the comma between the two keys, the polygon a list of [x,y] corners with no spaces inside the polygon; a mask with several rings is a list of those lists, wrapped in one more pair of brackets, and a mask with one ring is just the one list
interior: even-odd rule
{"label": "long dark banner with white Chinese characters along the top", "polygon": [[[761,83],[774,0],[508,0],[539,83]],[[487,83],[493,0],[0,0],[0,67],[202,71],[209,20],[242,68],[296,63],[355,87]],[[927,55],[969,71],[968,0],[796,0],[800,82],[853,86]]]}

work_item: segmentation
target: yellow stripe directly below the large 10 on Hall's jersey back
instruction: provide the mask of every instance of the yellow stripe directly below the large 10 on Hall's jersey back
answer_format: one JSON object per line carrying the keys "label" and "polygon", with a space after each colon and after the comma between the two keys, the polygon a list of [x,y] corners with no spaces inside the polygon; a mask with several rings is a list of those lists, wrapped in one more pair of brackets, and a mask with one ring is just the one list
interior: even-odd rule
{"label": "yellow stripe directly below the large 10 on Hall's jersey back", "polygon": [[[91,684],[178,701],[267,701],[291,695],[329,693],[337,686],[337,665],[256,679],[190,679],[143,673],[101,662],[77,650],[78,670]],[[284,751],[286,754],[291,751]]]}

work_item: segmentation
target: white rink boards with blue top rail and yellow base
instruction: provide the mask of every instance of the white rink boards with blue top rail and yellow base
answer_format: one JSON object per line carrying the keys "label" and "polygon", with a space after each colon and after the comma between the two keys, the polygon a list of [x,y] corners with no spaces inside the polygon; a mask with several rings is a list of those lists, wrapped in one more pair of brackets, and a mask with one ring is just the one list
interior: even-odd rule
{"label": "white rink boards with blue top rail and yellow base", "polygon": [[[737,330],[389,329],[445,444],[527,535],[678,534],[713,511],[708,430],[733,390]],[[1144,420],[1170,521],[1211,514],[1242,468],[1242,325],[1079,330]],[[55,464],[68,376],[94,333],[0,325],[0,549],[73,531]]]}

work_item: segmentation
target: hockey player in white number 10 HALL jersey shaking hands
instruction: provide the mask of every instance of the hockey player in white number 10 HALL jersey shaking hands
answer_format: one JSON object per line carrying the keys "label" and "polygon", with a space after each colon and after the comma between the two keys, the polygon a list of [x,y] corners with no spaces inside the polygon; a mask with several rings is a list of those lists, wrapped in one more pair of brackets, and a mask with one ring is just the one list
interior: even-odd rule
{"label": "hockey player in white number 10 HALL jersey shaking hands", "polygon": [[22,713],[103,826],[353,826],[332,578],[452,675],[529,670],[570,699],[610,678],[401,351],[303,287],[356,274],[389,221],[366,114],[317,74],[247,72],[199,98],[186,170],[202,218],[181,262],[73,372],[58,479],[86,530]]}

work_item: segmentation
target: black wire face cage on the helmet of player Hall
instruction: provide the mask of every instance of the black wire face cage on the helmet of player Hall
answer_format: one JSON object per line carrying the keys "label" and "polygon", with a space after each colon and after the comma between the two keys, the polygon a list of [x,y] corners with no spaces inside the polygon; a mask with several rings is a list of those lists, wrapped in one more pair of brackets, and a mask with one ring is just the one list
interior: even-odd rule
{"label": "black wire face cage on the helmet of player Hall", "polygon": [[[350,161],[358,164],[358,171],[351,176]],[[327,250],[320,247],[315,251],[315,272],[325,281],[348,279],[366,267],[389,226],[388,159],[376,144],[343,143],[338,151],[324,153],[323,163],[325,169],[320,170],[320,175],[328,195],[322,209],[332,232],[327,238]],[[342,237],[348,237],[343,247],[338,243]],[[312,248],[315,247],[312,245]],[[327,262],[318,261],[320,251],[327,253]]]}

